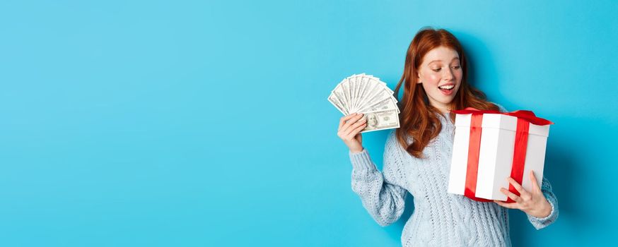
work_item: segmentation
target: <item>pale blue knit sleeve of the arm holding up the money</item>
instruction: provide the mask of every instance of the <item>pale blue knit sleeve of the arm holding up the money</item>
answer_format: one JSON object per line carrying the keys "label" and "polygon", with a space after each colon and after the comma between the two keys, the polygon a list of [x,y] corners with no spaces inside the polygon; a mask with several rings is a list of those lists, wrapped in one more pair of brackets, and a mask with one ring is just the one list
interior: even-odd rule
{"label": "pale blue knit sleeve of the arm holding up the money", "polygon": [[380,226],[396,222],[404,212],[407,191],[401,186],[399,163],[395,155],[396,139],[393,132],[387,138],[384,150],[383,172],[378,171],[366,149],[349,152],[352,162],[352,191],[363,203],[363,207]]}

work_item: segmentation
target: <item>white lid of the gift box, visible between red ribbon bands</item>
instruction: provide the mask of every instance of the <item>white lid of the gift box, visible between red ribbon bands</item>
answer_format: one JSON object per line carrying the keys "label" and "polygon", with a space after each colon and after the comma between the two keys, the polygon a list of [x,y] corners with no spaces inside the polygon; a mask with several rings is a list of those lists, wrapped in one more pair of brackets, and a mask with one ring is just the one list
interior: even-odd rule
{"label": "white lid of the gift box, visible between red ribbon bands", "polygon": [[[470,128],[472,114],[457,114],[455,115],[455,127]],[[517,117],[504,114],[483,114],[482,128],[500,128],[506,131],[517,130]],[[530,135],[540,135],[547,137],[549,135],[549,125],[536,125],[530,123],[528,129]]]}

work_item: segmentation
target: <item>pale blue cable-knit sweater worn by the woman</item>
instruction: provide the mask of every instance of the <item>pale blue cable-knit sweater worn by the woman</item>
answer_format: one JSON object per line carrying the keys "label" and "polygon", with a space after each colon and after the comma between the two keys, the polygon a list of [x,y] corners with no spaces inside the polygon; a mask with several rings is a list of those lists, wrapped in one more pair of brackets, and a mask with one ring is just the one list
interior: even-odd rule
{"label": "pale blue cable-knit sweater worn by the woman", "polygon": [[[387,137],[382,172],[367,150],[349,152],[352,191],[383,227],[401,217],[408,192],[413,195],[414,213],[404,226],[402,246],[511,246],[508,208],[446,192],[455,126],[448,114],[438,118],[442,131],[423,150],[426,159],[405,152],[394,130]],[[544,177],[541,188],[552,212],[544,218],[527,215],[535,229],[547,227],[558,217],[556,196]]]}

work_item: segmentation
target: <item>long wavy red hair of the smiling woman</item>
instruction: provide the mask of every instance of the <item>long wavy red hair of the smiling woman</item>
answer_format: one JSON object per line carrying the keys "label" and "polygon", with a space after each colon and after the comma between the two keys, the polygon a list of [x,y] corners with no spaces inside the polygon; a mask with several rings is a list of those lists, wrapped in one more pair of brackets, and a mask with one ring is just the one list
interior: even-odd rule
{"label": "long wavy red hair of the smiling woman", "polygon": [[[395,97],[398,97],[399,90],[404,85],[403,97],[398,103],[401,110],[401,127],[395,131],[397,142],[405,147],[410,155],[417,158],[424,158],[424,148],[442,130],[442,124],[437,116],[440,111],[429,104],[423,85],[418,83],[419,78],[416,76],[425,54],[431,49],[441,46],[453,49],[459,54],[463,72],[460,88],[457,90],[453,101],[450,102],[450,109],[474,107],[485,110],[499,110],[496,104],[486,100],[484,92],[473,88],[468,83],[467,59],[455,35],[444,29],[421,28],[410,42],[404,73],[395,88]],[[450,121],[455,122],[455,114],[451,112],[449,116]],[[408,136],[412,137],[412,143],[408,143]]]}

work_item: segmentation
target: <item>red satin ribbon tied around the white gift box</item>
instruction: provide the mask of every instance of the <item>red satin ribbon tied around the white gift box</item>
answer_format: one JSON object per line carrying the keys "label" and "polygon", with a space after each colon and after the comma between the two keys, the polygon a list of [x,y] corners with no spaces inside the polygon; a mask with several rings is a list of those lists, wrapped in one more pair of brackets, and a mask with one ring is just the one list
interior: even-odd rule
{"label": "red satin ribbon tied around the white gift box", "polygon": [[[470,120],[470,143],[468,147],[468,166],[466,169],[466,183],[464,195],[472,200],[479,202],[491,202],[492,200],[485,198],[477,198],[475,192],[477,190],[477,174],[479,171],[479,153],[481,152],[481,134],[483,114],[503,114],[517,117],[517,128],[515,129],[515,148],[513,149],[513,168],[511,169],[511,178],[515,179],[519,184],[523,181],[523,169],[525,165],[525,155],[528,143],[528,129],[530,123],[535,125],[554,124],[547,119],[541,119],[530,111],[515,111],[515,112],[498,112],[493,110],[479,110],[472,107],[466,109],[452,111],[455,114],[472,114]],[[515,195],[519,192],[509,183],[508,191]],[[511,198],[506,200],[507,203],[513,203]]]}

